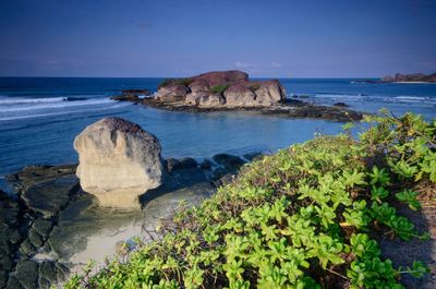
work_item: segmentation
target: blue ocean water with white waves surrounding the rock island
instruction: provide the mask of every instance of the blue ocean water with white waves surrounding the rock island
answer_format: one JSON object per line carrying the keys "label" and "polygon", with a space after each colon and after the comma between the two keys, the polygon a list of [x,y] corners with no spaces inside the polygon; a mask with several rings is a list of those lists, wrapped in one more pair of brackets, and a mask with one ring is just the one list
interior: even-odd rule
{"label": "blue ocean water with white waves surrounding the rock island", "polygon": [[[335,134],[342,123],[290,120],[252,112],[191,113],[157,110],[109,97],[125,88],[157,89],[164,79],[0,77],[0,186],[27,165],[77,161],[73,140],[107,116],[138,123],[161,142],[164,157],[196,159],[217,153],[276,152]],[[376,112],[387,108],[436,118],[436,84],[379,84],[355,79],[283,79],[288,97]],[[3,183],[3,184],[1,184]]]}

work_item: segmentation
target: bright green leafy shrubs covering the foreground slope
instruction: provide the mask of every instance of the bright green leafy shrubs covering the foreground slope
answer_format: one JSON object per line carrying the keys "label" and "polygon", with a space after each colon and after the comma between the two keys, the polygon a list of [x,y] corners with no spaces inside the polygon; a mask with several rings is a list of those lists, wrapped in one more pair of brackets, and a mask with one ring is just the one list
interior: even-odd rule
{"label": "bright green leafy shrubs covering the foreground slope", "polygon": [[401,275],[428,268],[395,267],[377,240],[428,238],[393,204],[420,209],[413,188],[436,182],[436,122],[364,121],[359,141],[347,124],[245,166],[199,206],[162,220],[125,262],[66,288],[403,288]]}

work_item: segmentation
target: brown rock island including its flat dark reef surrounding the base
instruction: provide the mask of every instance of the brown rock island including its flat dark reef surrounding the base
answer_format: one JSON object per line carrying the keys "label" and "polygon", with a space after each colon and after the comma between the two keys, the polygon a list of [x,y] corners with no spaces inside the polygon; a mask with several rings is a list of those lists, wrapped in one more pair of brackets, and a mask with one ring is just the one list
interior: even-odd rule
{"label": "brown rock island including its flat dark reef surrounding the base", "polygon": [[362,119],[361,112],[343,106],[319,106],[288,99],[286,89],[278,80],[250,80],[247,73],[238,70],[207,72],[186,79],[168,79],[149,97],[140,97],[130,92],[112,99],[174,111],[255,111],[287,118],[334,121]]}

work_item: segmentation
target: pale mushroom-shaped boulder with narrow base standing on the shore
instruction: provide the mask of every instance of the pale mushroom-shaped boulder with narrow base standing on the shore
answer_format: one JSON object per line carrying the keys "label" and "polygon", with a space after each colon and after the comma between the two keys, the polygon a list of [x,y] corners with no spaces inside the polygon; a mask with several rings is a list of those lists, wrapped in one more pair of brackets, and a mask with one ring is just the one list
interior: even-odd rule
{"label": "pale mushroom-shaped boulder with narrow base standing on the shore", "polygon": [[161,184],[160,143],[140,125],[105,118],[74,140],[82,189],[100,206],[140,208],[138,195]]}

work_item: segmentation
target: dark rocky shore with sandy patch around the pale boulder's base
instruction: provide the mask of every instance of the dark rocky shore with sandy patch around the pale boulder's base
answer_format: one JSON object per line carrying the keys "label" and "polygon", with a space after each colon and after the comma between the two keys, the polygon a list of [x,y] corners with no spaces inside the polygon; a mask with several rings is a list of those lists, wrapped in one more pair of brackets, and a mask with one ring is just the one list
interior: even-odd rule
{"label": "dark rocky shore with sandy patch around the pale boulder's base", "polygon": [[[156,216],[172,214],[182,200],[189,205],[204,200],[217,186],[232,181],[241,166],[259,156],[219,154],[202,162],[189,157],[167,159],[162,185],[140,198],[143,209],[137,212],[97,207],[95,196],[78,184],[76,165],[31,166],[8,176],[15,195],[0,192],[0,288],[49,288],[62,282],[86,264],[89,256],[82,254],[84,260],[78,260],[82,263],[77,266],[74,251],[85,251],[96,230],[107,227],[113,236],[117,227],[132,219],[138,220],[140,229],[153,227]],[[117,252],[114,244],[108,250]],[[100,255],[104,258],[105,252]]]}

